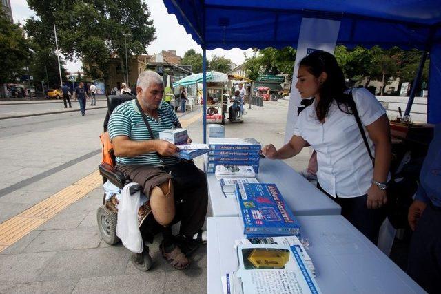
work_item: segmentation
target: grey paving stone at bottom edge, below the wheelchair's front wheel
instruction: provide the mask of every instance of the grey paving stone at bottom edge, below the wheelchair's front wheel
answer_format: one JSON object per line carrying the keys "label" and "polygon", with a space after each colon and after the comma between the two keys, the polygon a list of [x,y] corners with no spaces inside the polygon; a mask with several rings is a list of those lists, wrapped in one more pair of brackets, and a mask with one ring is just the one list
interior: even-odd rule
{"label": "grey paving stone at bottom edge, below the wheelchair's front wheel", "polygon": [[79,280],[72,293],[163,293],[165,273],[145,272]]}

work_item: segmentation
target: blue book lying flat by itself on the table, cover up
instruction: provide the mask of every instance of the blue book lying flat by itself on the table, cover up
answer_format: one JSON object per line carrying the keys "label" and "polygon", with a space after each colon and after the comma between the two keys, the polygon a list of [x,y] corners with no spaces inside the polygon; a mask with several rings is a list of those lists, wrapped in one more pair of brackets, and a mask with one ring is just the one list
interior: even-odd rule
{"label": "blue book lying flat by itself on the table, cover up", "polygon": [[300,235],[300,224],[276,184],[236,185],[244,234],[252,236]]}

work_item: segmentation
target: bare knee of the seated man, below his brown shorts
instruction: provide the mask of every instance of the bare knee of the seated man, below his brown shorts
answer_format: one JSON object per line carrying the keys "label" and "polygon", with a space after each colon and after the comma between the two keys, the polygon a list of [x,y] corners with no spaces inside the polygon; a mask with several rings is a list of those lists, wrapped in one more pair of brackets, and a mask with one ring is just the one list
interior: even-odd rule
{"label": "bare knee of the seated man, below his brown shorts", "polygon": [[174,218],[174,193],[172,180],[154,187],[150,193],[150,207],[158,224],[167,226]]}

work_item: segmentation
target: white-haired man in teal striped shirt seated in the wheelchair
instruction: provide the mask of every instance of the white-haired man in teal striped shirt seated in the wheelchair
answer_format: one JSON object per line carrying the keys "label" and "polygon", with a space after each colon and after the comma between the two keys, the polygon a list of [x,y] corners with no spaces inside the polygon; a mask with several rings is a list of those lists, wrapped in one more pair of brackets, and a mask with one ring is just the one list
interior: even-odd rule
{"label": "white-haired man in teal striped shirt seated in the wheelchair", "polygon": [[[136,99],[114,109],[108,129],[118,169],[143,186],[145,195],[150,196],[154,220],[164,227],[163,257],[175,269],[185,269],[189,266],[187,256],[197,249],[193,242],[203,241],[207,185],[205,174],[194,162],[172,156],[178,151],[176,145],[156,139],[158,132],[181,126],[172,106],[162,100],[163,94],[161,76],[142,72],[136,83]],[[154,138],[140,111],[145,113]],[[178,239],[170,227],[175,215],[181,220]],[[138,269],[145,269],[142,254],[145,252],[132,256]]]}

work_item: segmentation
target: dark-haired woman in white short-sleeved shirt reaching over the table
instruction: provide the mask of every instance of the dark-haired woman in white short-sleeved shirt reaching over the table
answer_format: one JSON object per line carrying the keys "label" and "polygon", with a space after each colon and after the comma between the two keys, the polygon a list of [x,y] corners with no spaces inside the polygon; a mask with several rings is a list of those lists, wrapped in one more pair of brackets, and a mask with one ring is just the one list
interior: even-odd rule
{"label": "dark-haired woman in white short-sleeved shirt reaching over the table", "polygon": [[[317,152],[318,188],[342,207],[345,216],[374,244],[384,220],[391,161],[389,120],[382,105],[365,89],[349,91],[336,58],[316,51],[300,61],[296,88],[314,97],[298,116],[294,136],[276,149],[263,147],[268,158],[287,159],[311,146]],[[354,112],[360,116],[371,160]]]}

